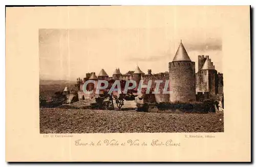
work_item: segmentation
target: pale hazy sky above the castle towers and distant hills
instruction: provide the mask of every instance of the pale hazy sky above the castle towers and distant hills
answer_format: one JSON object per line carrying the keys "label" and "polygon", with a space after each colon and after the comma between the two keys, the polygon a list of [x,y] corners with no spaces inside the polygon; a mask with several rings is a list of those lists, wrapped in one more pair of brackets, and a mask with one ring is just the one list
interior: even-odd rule
{"label": "pale hazy sky above the castle towers and distant hills", "polygon": [[177,16],[172,16],[173,21],[165,16],[161,24],[148,28],[40,29],[40,78],[75,79],[88,72],[98,75],[102,68],[112,76],[115,68],[124,74],[137,65],[144,73],[147,69],[165,72],[181,39],[190,59],[196,62],[196,71],[198,55],[209,55],[222,72],[221,24],[214,14],[210,16],[215,19],[197,15],[179,21]]}

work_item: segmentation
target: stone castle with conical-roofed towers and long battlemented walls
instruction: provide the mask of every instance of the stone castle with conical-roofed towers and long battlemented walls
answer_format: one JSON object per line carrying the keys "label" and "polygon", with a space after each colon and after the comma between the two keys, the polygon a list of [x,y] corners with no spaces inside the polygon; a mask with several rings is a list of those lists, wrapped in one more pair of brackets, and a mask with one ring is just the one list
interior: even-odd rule
{"label": "stone castle with conical-roofed towers and long battlemented walls", "polygon": [[[148,80],[152,80],[154,88],[154,80],[169,80],[170,94],[162,94],[164,84],[160,84],[160,94],[155,94],[156,102],[189,102],[201,101],[204,99],[215,99],[223,105],[223,74],[218,73],[214,64],[208,55],[198,55],[198,72],[196,73],[195,62],[192,62],[187,54],[185,47],[180,42],[178,50],[172,62],[168,63],[168,72],[152,74],[152,70],[148,69],[145,74],[138,66],[134,71],[128,71],[125,74],[120,69],[115,69],[112,77],[110,77],[104,69],[101,69],[98,76],[95,72],[87,73],[83,79],[77,78],[77,90],[69,91],[65,88],[68,99],[78,96],[79,100],[93,98],[95,94],[84,94],[83,84],[87,80],[130,80],[133,79],[137,83],[143,80],[143,84],[147,84]],[[97,84],[89,84],[90,90],[95,90]]]}

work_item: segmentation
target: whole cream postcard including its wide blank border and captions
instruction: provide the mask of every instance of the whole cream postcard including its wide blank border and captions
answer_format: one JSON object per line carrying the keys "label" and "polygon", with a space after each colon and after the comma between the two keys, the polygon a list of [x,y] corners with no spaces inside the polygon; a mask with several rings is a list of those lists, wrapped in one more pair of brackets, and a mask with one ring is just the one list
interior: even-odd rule
{"label": "whole cream postcard including its wide blank border and captions", "polygon": [[251,161],[251,12],[6,7],[6,161]]}

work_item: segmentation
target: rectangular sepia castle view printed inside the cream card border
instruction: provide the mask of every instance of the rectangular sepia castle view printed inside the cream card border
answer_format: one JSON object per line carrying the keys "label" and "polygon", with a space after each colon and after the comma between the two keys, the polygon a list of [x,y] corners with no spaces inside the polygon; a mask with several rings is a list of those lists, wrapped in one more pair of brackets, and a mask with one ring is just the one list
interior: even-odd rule
{"label": "rectangular sepia castle view printed inside the cream card border", "polygon": [[224,132],[220,28],[166,22],[39,29],[40,133]]}

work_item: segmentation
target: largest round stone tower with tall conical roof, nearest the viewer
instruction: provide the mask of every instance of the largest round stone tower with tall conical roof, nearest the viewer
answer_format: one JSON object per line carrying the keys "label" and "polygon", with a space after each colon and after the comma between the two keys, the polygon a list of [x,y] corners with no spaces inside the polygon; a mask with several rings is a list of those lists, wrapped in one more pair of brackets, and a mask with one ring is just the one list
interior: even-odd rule
{"label": "largest round stone tower with tall conical roof, nearest the viewer", "polygon": [[169,83],[171,102],[196,100],[195,62],[191,62],[182,41],[169,63]]}

